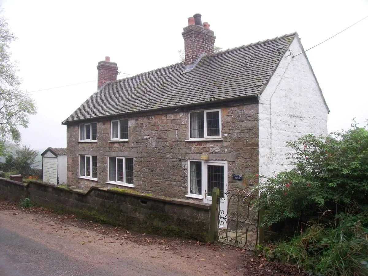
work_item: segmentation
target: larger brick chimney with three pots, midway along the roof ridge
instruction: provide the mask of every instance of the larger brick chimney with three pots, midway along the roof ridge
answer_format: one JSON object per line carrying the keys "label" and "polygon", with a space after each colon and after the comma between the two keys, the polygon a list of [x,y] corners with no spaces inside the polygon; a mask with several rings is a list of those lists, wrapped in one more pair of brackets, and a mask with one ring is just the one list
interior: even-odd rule
{"label": "larger brick chimney with three pots, midway along the roof ridge", "polygon": [[189,17],[188,26],[181,33],[184,38],[185,70],[193,68],[205,54],[215,52],[216,36],[209,29],[208,22],[202,25],[201,17],[199,13]]}

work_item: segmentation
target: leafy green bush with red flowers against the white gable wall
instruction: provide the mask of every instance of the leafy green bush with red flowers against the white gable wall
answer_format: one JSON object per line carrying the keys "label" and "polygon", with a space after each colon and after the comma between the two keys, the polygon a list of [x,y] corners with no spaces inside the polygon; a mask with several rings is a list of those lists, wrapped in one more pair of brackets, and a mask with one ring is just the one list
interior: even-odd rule
{"label": "leafy green bush with red flowers against the white gable wall", "polygon": [[266,178],[259,185],[263,225],[310,215],[360,213],[368,201],[368,130],[353,124],[326,137],[305,135],[288,142],[294,169]]}

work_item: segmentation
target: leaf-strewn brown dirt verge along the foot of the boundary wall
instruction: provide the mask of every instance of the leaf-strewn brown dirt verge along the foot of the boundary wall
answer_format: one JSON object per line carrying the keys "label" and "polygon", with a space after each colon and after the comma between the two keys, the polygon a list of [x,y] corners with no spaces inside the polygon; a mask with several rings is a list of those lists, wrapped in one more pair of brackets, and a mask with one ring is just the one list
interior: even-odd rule
{"label": "leaf-strewn brown dirt verge along the foot of the boundary wall", "polygon": [[192,275],[306,275],[300,273],[296,266],[267,262],[253,252],[222,244],[137,233],[42,207],[25,209],[7,201],[0,201],[0,212],[10,219],[21,215],[22,220],[27,220],[29,227],[42,228],[56,235],[69,235],[74,240],[81,241],[81,245],[93,243],[95,246],[114,249],[125,243],[132,243],[133,247],[136,244],[137,247],[139,245],[140,248],[153,252],[152,254],[167,256],[169,265],[188,267],[188,273],[191,271]]}

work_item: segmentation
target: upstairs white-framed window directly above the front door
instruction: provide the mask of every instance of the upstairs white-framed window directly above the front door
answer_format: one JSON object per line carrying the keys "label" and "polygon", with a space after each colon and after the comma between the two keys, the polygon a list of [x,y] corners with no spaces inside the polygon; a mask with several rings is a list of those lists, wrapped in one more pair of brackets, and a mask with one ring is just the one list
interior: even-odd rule
{"label": "upstairs white-framed window directly above the front door", "polygon": [[190,112],[189,139],[221,139],[221,109]]}

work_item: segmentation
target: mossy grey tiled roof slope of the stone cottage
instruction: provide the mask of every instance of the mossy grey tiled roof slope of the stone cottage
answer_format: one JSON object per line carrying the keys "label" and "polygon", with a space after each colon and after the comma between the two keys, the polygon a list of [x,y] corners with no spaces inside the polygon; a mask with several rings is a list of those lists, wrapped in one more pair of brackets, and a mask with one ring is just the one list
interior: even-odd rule
{"label": "mossy grey tiled roof slope of the stone cottage", "polygon": [[63,124],[157,109],[258,96],[297,33],[119,79],[93,93]]}

